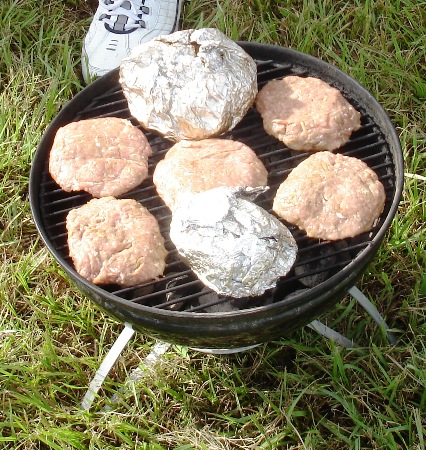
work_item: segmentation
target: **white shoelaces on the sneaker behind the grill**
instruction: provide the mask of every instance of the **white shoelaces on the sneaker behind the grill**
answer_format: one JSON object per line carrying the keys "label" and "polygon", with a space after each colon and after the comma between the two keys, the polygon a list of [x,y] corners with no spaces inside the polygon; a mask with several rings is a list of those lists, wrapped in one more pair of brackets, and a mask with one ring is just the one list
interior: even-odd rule
{"label": "white shoelaces on the sneaker behind the grill", "polygon": [[145,28],[142,14],[149,14],[150,11],[143,3],[144,0],[100,0],[102,14],[99,20],[108,24],[112,30],[131,31],[139,27]]}

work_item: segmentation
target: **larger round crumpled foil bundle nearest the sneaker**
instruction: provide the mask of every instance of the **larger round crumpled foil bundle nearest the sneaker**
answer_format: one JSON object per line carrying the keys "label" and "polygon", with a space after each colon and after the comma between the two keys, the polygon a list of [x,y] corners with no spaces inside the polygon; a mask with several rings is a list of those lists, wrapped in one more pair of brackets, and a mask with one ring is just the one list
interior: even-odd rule
{"label": "larger round crumpled foil bundle nearest the sneaker", "polygon": [[215,28],[182,30],[133,49],[120,65],[132,115],[165,138],[205,139],[244,117],[257,94],[257,67]]}

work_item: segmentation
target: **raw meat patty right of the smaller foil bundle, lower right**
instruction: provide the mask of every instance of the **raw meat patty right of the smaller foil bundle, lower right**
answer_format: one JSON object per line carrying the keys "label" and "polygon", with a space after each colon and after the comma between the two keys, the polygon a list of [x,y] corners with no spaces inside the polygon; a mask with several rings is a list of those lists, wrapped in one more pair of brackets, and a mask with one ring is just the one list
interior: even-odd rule
{"label": "raw meat patty right of the smaller foil bundle, lower right", "polygon": [[281,183],[272,209],[310,237],[337,240],[370,230],[384,204],[384,187],[363,161],[318,152]]}

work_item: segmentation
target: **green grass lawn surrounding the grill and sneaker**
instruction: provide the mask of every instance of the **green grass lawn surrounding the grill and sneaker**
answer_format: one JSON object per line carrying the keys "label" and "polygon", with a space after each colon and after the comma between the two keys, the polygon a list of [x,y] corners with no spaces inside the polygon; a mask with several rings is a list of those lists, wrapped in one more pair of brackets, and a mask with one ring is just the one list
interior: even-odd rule
{"label": "green grass lawn surrounding the grill and sneaker", "polygon": [[90,412],[79,404],[122,326],[69,283],[28,203],[32,156],[83,88],[83,0],[0,5],[0,448],[425,448],[426,2],[192,0],[183,26],[275,43],[349,73],[382,104],[405,158],[403,198],[359,287],[398,333],[389,347],[350,298],[322,320],[364,346],[309,331],[234,356],[174,347],[102,412],[153,341],[137,335]]}

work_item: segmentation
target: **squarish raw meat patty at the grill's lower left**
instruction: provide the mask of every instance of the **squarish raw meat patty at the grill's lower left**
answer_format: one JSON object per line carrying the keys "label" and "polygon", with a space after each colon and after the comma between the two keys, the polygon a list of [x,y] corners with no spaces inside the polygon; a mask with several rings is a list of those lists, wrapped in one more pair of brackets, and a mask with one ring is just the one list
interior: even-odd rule
{"label": "squarish raw meat patty at the grill's lower left", "polygon": [[76,271],[95,284],[134,286],[164,272],[157,219],[136,200],[90,200],[68,213],[66,227]]}

